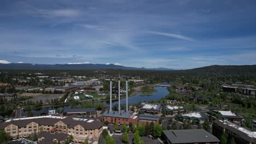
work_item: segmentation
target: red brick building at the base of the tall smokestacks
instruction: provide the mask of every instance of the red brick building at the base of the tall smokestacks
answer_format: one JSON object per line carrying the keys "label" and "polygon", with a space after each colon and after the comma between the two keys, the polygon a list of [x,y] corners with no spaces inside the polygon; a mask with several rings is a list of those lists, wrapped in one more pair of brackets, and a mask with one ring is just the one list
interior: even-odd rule
{"label": "red brick building at the base of the tall smokestacks", "polygon": [[125,111],[105,111],[102,116],[102,121],[108,122],[108,123],[119,123],[119,124],[129,124],[133,122],[138,121],[138,116],[136,116],[136,113],[133,113],[132,111],[125,112]]}

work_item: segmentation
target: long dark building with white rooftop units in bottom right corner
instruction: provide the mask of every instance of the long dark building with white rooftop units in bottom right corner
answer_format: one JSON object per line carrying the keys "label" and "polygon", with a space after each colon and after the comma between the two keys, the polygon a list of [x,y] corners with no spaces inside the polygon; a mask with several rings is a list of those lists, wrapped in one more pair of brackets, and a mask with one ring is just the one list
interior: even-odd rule
{"label": "long dark building with white rooftop units in bottom right corner", "polygon": [[256,143],[256,131],[250,131],[246,128],[239,127],[229,121],[216,119],[212,125],[212,134],[220,139],[224,131],[229,137],[234,137],[236,143]]}

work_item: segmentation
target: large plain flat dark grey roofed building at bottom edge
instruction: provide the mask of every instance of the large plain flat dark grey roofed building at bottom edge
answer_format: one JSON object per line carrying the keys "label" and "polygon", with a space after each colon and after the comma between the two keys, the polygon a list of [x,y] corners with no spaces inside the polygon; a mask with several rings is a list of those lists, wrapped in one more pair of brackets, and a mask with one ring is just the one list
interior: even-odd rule
{"label": "large plain flat dark grey roofed building at bottom edge", "polygon": [[219,143],[219,139],[204,129],[163,130],[162,140],[174,143]]}

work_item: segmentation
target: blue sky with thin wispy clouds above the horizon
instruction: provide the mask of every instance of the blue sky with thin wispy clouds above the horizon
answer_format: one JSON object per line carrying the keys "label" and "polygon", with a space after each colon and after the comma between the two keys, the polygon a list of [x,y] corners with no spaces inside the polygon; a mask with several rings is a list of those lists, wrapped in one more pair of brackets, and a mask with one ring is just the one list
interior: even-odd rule
{"label": "blue sky with thin wispy clouds above the horizon", "polygon": [[256,1],[0,2],[0,60],[190,69],[256,64]]}

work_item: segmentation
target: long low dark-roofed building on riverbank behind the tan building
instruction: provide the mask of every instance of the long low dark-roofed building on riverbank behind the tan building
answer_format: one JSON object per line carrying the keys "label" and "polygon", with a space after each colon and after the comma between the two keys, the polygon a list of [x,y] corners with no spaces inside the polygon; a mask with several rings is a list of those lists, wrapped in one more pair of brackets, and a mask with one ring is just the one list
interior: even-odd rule
{"label": "long low dark-roofed building on riverbank behind the tan building", "polygon": [[69,109],[65,108],[63,110],[63,115],[68,116],[68,115],[86,115],[86,116],[94,116],[96,117],[96,109],[95,108],[86,108],[86,109]]}

